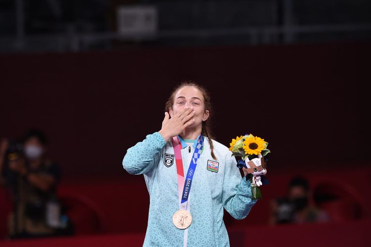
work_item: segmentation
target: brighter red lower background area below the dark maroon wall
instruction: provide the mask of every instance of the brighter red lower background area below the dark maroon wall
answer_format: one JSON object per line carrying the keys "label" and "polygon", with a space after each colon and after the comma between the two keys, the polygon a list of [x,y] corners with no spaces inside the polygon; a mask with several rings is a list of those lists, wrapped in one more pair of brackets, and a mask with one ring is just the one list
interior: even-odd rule
{"label": "brighter red lower background area below the dark maroon wall", "polygon": [[[304,172],[304,171],[303,171]],[[353,171],[328,171],[318,174],[314,171],[300,173],[305,176],[313,189],[312,203],[324,209],[330,221],[319,224],[269,226],[270,202],[278,195],[285,194],[285,185],[298,175],[270,174],[270,185],[262,188],[263,198],[253,207],[244,220],[234,220],[225,214],[225,223],[230,233],[232,246],[253,246],[260,242],[251,236],[270,236],[266,246],[275,242],[288,241],[311,246],[333,236],[331,246],[364,246],[367,225],[371,223],[371,169],[360,168]],[[281,186],[282,185],[282,186]],[[75,236],[53,240],[17,240],[2,242],[1,246],[16,247],[27,242],[28,246],[120,246],[123,242],[130,246],[141,246],[146,230],[149,197],[143,177],[136,179],[96,178],[64,181],[58,195],[67,208],[67,214],[75,226]],[[11,205],[0,191],[0,236],[6,236],[5,217]],[[336,232],[347,233],[339,236]],[[98,236],[96,236],[98,235]],[[352,238],[349,238],[352,236]],[[305,239],[305,241],[304,241]],[[129,246],[129,245],[128,245]]]}

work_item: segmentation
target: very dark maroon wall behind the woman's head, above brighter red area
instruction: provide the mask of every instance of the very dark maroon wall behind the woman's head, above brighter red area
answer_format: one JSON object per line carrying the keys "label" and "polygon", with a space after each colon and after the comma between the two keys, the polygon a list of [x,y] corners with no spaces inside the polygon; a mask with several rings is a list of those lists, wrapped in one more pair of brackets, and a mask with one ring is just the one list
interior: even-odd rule
{"label": "very dark maroon wall behind the woman's head, above brighter red area", "polygon": [[[123,174],[174,85],[211,92],[216,140],[265,138],[272,172],[370,162],[370,45],[131,49],[0,56],[0,137],[45,130],[66,177]],[[289,154],[295,154],[289,157]]]}

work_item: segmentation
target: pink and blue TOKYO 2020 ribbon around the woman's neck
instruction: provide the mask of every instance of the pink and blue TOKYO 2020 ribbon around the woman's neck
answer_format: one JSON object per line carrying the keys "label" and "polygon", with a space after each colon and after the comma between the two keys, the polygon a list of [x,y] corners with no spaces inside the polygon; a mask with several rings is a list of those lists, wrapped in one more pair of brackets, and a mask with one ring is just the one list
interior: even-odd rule
{"label": "pink and blue TOKYO 2020 ribbon around the woman's neck", "polygon": [[[181,153],[181,143],[178,137],[173,137],[173,148],[175,154],[175,161],[177,163],[177,174],[178,174],[178,195],[180,200],[180,208],[185,209],[187,208],[187,201],[189,197],[190,187],[192,185],[192,180],[194,176],[194,172],[197,166],[197,159],[200,157],[202,148],[203,148],[204,137],[202,135],[199,136],[197,139],[197,145],[194,148],[194,152],[192,158],[190,160],[190,164],[188,167],[188,171],[186,177],[184,177],[184,169],[183,169],[183,159]],[[182,190],[183,187],[183,190]],[[183,192],[183,193],[182,193]]]}

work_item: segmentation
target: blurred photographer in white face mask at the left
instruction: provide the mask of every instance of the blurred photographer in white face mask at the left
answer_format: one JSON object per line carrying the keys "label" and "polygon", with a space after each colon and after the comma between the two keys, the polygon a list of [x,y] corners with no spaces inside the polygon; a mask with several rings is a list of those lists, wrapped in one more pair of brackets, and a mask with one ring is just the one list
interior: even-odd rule
{"label": "blurred photographer in white face mask at the left", "polygon": [[8,220],[10,238],[72,232],[56,197],[59,167],[45,158],[45,152],[46,137],[39,130],[29,131],[23,143],[1,141],[0,182],[11,191],[13,199]]}

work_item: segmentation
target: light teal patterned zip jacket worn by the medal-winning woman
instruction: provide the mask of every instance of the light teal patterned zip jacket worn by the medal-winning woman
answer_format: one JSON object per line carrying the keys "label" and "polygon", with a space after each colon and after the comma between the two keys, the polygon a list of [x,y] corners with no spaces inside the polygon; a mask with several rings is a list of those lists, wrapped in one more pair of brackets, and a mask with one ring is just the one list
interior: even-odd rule
{"label": "light teal patterned zip jacket worn by the medal-winning woman", "polygon": [[[182,158],[186,174],[193,154],[182,143]],[[251,199],[251,183],[241,178],[236,160],[226,146],[213,140],[212,158],[209,140],[197,161],[189,192],[192,224],[188,228],[188,247],[225,247],[229,237],[223,222],[223,207],[235,219],[245,218],[257,200]],[[150,197],[148,225],[143,246],[183,247],[184,231],[173,224],[173,214],[179,210],[177,167],[172,143],[158,133],[129,148],[122,161],[130,174],[144,174]],[[165,164],[164,157],[167,157]],[[170,160],[169,160],[170,159]],[[208,161],[218,162],[217,167]],[[215,163],[214,163],[215,164]]]}

